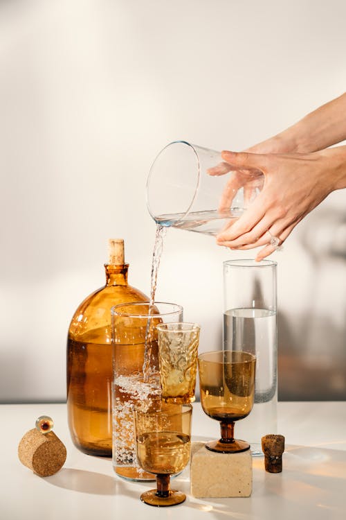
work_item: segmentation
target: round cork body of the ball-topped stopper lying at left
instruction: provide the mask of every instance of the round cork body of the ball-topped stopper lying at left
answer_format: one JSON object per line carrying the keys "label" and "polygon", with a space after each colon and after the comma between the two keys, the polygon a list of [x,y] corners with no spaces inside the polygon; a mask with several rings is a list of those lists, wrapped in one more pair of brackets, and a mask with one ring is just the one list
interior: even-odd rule
{"label": "round cork body of the ball-topped stopper lying at left", "polygon": [[19,442],[18,456],[35,474],[51,476],[64,465],[66,448],[53,431],[44,434],[33,428]]}

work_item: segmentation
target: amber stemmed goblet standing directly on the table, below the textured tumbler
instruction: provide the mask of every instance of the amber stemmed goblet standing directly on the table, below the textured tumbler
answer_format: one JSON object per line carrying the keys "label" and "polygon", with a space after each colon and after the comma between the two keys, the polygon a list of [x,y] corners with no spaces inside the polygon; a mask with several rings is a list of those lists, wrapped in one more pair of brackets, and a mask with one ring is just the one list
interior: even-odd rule
{"label": "amber stemmed goblet standing directly on the table, below the textured tumbler", "polygon": [[170,476],[189,462],[191,417],[191,404],[161,404],[147,412],[134,408],[138,465],[156,474],[156,489],[141,494],[141,501],[161,507],[185,501],[184,493],[170,489]]}

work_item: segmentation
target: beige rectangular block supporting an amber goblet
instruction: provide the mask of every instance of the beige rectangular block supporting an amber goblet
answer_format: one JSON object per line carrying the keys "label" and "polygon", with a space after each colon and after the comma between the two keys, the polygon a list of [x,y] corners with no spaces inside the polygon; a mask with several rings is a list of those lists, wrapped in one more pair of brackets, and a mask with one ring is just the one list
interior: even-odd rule
{"label": "beige rectangular block supporting an amber goblet", "polygon": [[204,442],[192,442],[190,491],[197,499],[250,496],[253,487],[251,451],[215,453]]}

